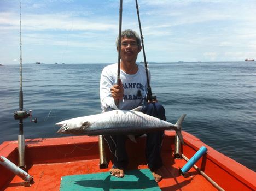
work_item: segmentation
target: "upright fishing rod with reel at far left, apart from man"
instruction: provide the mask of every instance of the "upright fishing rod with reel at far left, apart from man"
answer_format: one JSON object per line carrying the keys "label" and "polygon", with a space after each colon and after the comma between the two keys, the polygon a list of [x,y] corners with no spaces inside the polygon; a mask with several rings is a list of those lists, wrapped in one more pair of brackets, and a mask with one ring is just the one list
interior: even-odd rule
{"label": "upright fishing rod with reel at far left, apart from man", "polygon": [[[25,139],[23,132],[23,120],[28,117],[32,117],[32,110],[27,112],[23,110],[23,92],[22,92],[22,44],[21,44],[21,2],[20,2],[20,98],[19,98],[19,111],[14,111],[15,120],[20,120],[19,123],[19,135],[18,135],[18,151],[19,151],[19,167],[26,169],[25,165]],[[31,122],[37,123],[37,118],[31,120]]]}

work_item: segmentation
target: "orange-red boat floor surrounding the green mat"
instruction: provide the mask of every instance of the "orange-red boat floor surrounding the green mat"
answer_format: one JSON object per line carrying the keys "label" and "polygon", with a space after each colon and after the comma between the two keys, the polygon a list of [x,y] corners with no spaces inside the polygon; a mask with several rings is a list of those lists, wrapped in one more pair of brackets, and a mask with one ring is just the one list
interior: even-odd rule
{"label": "orange-red boat floor surrounding the green mat", "polygon": [[[197,174],[194,169],[190,172],[191,177],[189,178],[179,175],[178,168],[185,164],[184,160],[174,161],[167,155],[163,157],[165,158],[164,179],[158,183],[161,190],[217,190],[205,178]],[[170,160],[172,160],[173,165],[170,165]],[[111,165],[109,164],[109,166]],[[147,166],[138,165],[137,168],[144,169]],[[37,164],[28,170],[28,173],[34,177],[34,184],[31,187],[24,187],[23,180],[15,176],[5,190],[59,190],[62,176],[106,171],[108,169],[102,170],[98,168],[98,159]]]}

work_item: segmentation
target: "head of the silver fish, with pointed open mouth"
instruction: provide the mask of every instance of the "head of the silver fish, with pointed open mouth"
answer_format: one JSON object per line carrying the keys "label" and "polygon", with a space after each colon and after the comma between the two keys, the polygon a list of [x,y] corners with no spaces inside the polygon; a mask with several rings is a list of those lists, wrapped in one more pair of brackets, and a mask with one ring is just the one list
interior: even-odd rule
{"label": "head of the silver fish, with pointed open mouth", "polygon": [[86,135],[86,129],[90,127],[91,123],[89,121],[74,121],[65,120],[55,124],[56,126],[61,126],[57,133],[62,134],[74,134],[74,135]]}

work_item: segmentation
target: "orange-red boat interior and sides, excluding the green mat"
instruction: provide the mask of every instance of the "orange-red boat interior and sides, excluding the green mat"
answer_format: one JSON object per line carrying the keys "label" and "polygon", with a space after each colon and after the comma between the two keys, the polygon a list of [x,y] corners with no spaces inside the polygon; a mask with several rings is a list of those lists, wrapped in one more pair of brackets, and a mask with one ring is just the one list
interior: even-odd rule
{"label": "orange-red boat interior and sides, excluding the green mat", "polygon": [[[183,138],[187,146],[183,146],[183,153],[191,158],[199,149],[188,142],[194,140],[197,146],[201,147],[202,142],[193,135],[183,132]],[[190,140],[190,141],[191,141]],[[145,138],[139,138],[137,144],[127,142],[127,150],[130,157],[128,169],[145,169],[147,168],[144,158],[144,141]],[[203,144],[205,145],[205,144]],[[214,152],[208,147],[207,158],[203,157],[196,163],[201,169],[213,178],[225,190],[254,190],[255,172],[245,168],[234,160],[225,157],[226,163],[238,165],[236,170],[227,170],[218,164],[220,159],[211,159]],[[17,163],[18,151],[17,141],[4,142],[0,146],[0,155],[8,156],[8,159]],[[11,151],[13,149],[13,151]],[[184,159],[174,159],[174,133],[167,132],[164,145],[162,147],[162,159],[164,168],[162,175],[164,178],[158,183],[161,190],[218,190],[208,182],[194,168],[189,171],[189,177],[179,175],[179,168],[187,163]],[[1,188],[3,190],[60,190],[61,177],[67,175],[91,174],[98,172],[108,172],[112,166],[109,160],[108,169],[100,169],[98,166],[98,138],[88,136],[76,136],[66,138],[49,138],[49,139],[31,139],[26,140],[26,164],[28,174],[34,178],[34,183],[30,187],[24,187],[23,180],[14,176],[7,169],[0,166]],[[216,154],[216,153],[215,153]],[[223,157],[221,153],[218,153]],[[108,148],[106,147],[107,158],[111,158]],[[225,164],[222,163],[225,166]],[[228,168],[228,167],[227,167]],[[246,175],[237,175],[236,171],[248,171]],[[242,173],[240,171],[240,173]],[[110,174],[109,174],[110,176]],[[245,180],[246,179],[246,180]],[[235,188],[235,189],[234,189]],[[110,189],[110,188],[109,188]]]}

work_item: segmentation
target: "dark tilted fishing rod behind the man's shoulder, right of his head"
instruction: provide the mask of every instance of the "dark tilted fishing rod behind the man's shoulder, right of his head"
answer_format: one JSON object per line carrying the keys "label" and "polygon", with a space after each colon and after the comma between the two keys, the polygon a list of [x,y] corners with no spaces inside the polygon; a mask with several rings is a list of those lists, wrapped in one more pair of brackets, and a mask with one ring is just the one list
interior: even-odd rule
{"label": "dark tilted fishing rod behind the man's shoulder, right of his head", "polygon": [[148,62],[146,61],[146,53],[145,53],[145,49],[144,49],[144,36],[142,35],[142,29],[141,29],[141,19],[139,17],[139,6],[138,6],[138,1],[135,0],[136,2],[136,9],[137,9],[137,15],[138,15],[138,23],[139,23],[139,32],[141,33],[141,44],[142,44],[142,51],[143,51],[143,57],[144,57],[144,64],[145,64],[145,70],[146,70],[146,76],[147,76],[147,97],[146,100],[147,102],[152,102],[152,101],[156,101],[156,95],[152,95],[152,91],[151,91],[151,87],[149,84],[149,76],[148,76]]}

